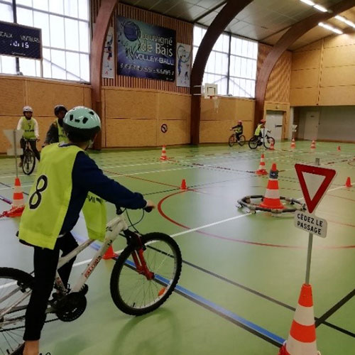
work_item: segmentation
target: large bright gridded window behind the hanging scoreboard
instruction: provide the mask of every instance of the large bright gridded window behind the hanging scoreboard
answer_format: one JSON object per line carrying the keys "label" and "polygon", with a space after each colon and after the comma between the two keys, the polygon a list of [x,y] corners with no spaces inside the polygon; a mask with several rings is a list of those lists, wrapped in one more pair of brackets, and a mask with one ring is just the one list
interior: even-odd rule
{"label": "large bright gridded window behind the hanging scoreboard", "polygon": [[[12,0],[2,0],[0,11],[13,21]],[[89,82],[89,0],[16,0],[16,14],[19,24],[42,28],[43,77]],[[40,60],[19,65],[23,75],[40,77]],[[1,55],[0,72],[16,74],[16,59]]]}

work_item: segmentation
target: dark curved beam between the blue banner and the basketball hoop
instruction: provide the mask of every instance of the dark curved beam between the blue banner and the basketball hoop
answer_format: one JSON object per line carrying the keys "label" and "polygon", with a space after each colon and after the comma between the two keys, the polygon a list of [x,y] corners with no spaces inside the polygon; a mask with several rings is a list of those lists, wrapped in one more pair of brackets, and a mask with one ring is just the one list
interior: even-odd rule
{"label": "dark curved beam between the blue banner and the basketball hoop", "polygon": [[[207,32],[202,38],[201,45],[197,50],[194,65],[191,70],[191,143],[198,144],[200,142],[200,117],[201,117],[201,96],[194,95],[199,93],[202,85],[204,67],[206,67],[209,54],[216,43],[219,35],[224,31],[226,26],[233,18],[249,5],[253,0],[228,0],[226,5],[218,15],[214,18]],[[354,1],[354,0],[353,0]]]}

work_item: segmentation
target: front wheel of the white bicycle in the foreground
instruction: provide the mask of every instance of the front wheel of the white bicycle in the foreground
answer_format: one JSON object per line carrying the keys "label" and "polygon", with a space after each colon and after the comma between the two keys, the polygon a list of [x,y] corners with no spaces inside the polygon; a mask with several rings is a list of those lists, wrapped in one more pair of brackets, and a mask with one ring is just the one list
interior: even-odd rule
{"label": "front wheel of the white bicycle in the foreground", "polygon": [[146,246],[143,257],[153,278],[148,280],[137,270],[131,245],[121,253],[111,273],[112,300],[128,315],[146,315],[163,305],[181,273],[181,252],[173,238],[154,232],[141,236],[141,241]]}

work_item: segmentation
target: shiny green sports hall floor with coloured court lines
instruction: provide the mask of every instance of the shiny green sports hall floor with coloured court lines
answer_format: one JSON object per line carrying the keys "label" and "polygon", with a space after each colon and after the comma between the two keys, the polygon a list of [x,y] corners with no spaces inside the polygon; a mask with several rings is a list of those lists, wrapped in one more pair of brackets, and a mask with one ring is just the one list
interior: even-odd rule
{"label": "shiny green sports hall floor with coloured court lines", "polygon": [[[317,142],[275,145],[266,151],[266,168],[276,163],[280,194],[301,198],[295,163],[337,170],[317,215],[327,219],[327,238],[315,236],[310,281],[322,354],[355,354],[355,146]],[[293,226],[293,215],[248,214],[236,207],[245,195],[263,195],[268,176],[253,173],[261,151],[248,146],[168,147],[91,153],[100,168],[158,204],[138,224],[142,233],[163,231],[178,242],[183,266],[178,288],[155,312],[131,317],[111,300],[114,261],[102,261],[88,280],[88,306],[76,321],[45,324],[41,351],[52,355],[277,355],[287,339],[300,287],[305,280],[307,233]],[[0,195],[12,198],[14,162],[0,159]],[[23,191],[33,176],[21,175]],[[182,179],[189,190],[180,190]],[[0,200],[0,213],[9,204]],[[108,205],[109,218],[114,207]],[[141,212],[131,212],[137,221]],[[0,219],[0,266],[32,271],[32,250],[16,241],[18,219]],[[82,220],[75,227],[82,240]],[[115,241],[120,250],[124,240]],[[86,249],[76,263],[94,255]],[[83,265],[73,269],[75,277]],[[1,342],[1,339],[0,339]]]}

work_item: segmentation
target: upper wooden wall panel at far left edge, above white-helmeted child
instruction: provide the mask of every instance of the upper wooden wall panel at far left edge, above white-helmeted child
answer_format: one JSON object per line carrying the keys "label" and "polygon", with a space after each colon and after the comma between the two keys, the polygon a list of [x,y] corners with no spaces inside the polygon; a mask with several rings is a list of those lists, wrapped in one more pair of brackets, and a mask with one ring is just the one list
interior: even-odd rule
{"label": "upper wooden wall panel at far left edge, above white-helmeted child", "polygon": [[25,80],[0,77],[0,87],[0,115],[22,114],[22,108],[27,104]]}

